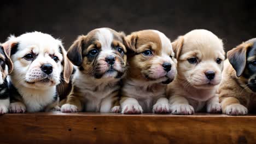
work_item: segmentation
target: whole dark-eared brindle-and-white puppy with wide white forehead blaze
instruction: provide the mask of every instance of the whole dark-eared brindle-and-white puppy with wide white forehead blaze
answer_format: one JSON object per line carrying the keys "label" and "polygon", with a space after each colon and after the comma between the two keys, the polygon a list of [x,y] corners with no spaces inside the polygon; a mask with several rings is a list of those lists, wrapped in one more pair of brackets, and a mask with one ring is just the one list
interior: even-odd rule
{"label": "whole dark-eared brindle-and-white puppy with wide white forehead blaze", "polygon": [[119,111],[120,80],[126,75],[124,37],[122,32],[97,28],[74,41],[67,57],[78,70],[62,112]]}

